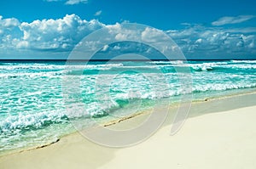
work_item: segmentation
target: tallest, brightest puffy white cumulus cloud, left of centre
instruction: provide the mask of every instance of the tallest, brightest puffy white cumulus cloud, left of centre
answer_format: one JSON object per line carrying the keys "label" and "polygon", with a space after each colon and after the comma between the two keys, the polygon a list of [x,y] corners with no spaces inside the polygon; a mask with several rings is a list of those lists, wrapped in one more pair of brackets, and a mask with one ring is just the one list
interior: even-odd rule
{"label": "tallest, brightest puffy white cumulus cloud, left of centre", "polygon": [[97,20],[81,20],[75,14],[66,15],[58,20],[34,20],[32,23],[23,22],[21,41],[38,50],[70,50],[81,38],[103,26]]}

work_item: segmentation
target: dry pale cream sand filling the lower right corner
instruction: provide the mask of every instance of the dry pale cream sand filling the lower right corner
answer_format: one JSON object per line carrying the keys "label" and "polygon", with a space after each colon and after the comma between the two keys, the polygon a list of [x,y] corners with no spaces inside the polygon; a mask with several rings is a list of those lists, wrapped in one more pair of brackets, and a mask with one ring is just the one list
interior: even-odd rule
{"label": "dry pale cream sand filling the lower right corner", "polygon": [[100,168],[256,168],[256,106],[190,118],[175,136],[163,127],[120,149]]}

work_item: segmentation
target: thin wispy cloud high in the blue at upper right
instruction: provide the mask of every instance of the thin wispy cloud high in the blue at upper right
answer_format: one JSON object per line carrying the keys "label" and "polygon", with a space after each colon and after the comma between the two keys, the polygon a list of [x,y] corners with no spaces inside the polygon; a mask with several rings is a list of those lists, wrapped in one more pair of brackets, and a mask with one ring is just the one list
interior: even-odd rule
{"label": "thin wispy cloud high in the blue at upper right", "polygon": [[239,15],[236,17],[225,16],[225,17],[222,17],[222,18],[212,22],[212,25],[239,24],[239,23],[245,22],[247,20],[252,20],[253,18],[255,18],[254,15]]}

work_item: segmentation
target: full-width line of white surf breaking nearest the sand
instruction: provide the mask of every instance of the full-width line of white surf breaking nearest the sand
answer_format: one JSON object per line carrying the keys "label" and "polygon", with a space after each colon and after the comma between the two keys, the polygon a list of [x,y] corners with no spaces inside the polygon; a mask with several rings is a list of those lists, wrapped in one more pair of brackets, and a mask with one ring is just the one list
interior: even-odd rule
{"label": "full-width line of white surf breaking nearest the sand", "polygon": [[[80,118],[99,118],[105,115],[109,115],[115,110],[129,106],[131,102],[135,104],[141,104],[141,102],[150,102],[155,99],[169,99],[170,97],[180,96],[189,93],[205,93],[205,92],[217,92],[217,91],[227,91],[231,89],[242,89],[256,87],[256,83],[253,84],[207,84],[207,85],[197,85],[192,87],[192,92],[189,90],[183,90],[181,88],[173,89],[162,89],[158,90],[157,94],[154,91],[145,92],[141,90],[142,94],[131,95],[124,92],[119,92],[115,94],[113,100],[103,100],[98,102],[96,100],[92,101],[90,104],[85,105],[84,108],[80,109],[81,104],[70,104],[70,111],[59,110],[59,111],[48,111],[35,114],[25,114],[25,115],[10,115],[0,121],[0,133],[9,134],[12,131],[18,130],[20,132],[36,130],[43,127],[49,127],[52,124],[67,123],[70,119],[80,119]],[[1,116],[0,116],[1,117]]]}

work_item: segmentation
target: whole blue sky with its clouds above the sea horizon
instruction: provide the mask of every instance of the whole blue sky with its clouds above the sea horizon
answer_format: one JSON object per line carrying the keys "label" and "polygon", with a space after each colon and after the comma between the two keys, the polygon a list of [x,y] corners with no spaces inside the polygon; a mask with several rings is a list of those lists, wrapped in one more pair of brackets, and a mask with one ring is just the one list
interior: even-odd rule
{"label": "whole blue sky with its clouds above the sea horizon", "polygon": [[0,59],[67,59],[83,37],[122,23],[164,31],[187,59],[256,59],[255,0],[2,0]]}

